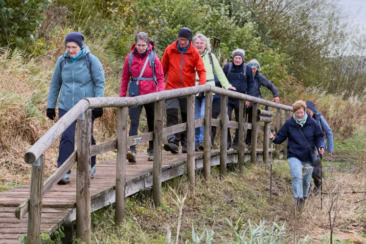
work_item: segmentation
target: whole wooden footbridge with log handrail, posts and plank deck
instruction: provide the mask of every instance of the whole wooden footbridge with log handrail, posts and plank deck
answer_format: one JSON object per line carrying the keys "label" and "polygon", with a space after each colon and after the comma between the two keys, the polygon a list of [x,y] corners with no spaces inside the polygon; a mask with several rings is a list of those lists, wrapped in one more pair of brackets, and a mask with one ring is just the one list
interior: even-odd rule
{"label": "whole wooden footbridge with log handrail, posts and plank deck", "polygon": [[[194,119],[195,94],[206,92],[205,118]],[[228,121],[227,116],[211,119],[212,93],[221,95],[221,114],[227,114],[228,96],[240,99],[240,119]],[[187,96],[187,122],[163,129],[163,100]],[[253,103],[252,124],[244,121],[245,101]],[[155,102],[154,132],[137,136],[127,136],[128,108]],[[265,110],[259,110],[259,105]],[[91,146],[92,108],[118,108],[117,139]],[[270,128],[276,108],[276,127]],[[269,132],[278,130],[281,113],[289,117],[292,107],[275,104],[267,100],[238,92],[201,85],[161,91],[138,97],[87,98],[81,100],[46,132],[24,155],[24,161],[32,164],[31,182],[9,191],[0,192],[0,244],[20,243],[18,237],[27,236],[26,243],[39,243],[40,233],[51,234],[64,223],[76,220],[76,237],[85,243],[91,242],[91,212],[115,202],[115,223],[124,219],[125,197],[152,187],[155,206],[160,204],[161,182],[183,175],[186,172],[189,184],[195,184],[195,170],[203,169],[204,178],[210,180],[210,167],[219,165],[221,177],[227,173],[227,164],[234,163],[240,172],[244,162],[267,161],[270,155]],[[77,150],[66,162],[44,182],[46,149],[77,119]],[[259,126],[260,121],[264,126]],[[204,151],[194,151],[194,128],[205,126]],[[211,126],[221,127],[220,150],[211,150]],[[239,129],[238,150],[227,150],[228,128]],[[252,151],[244,150],[245,129],[252,128]],[[187,131],[187,154],[173,155],[162,151],[164,136]],[[263,150],[256,149],[257,132],[263,131]],[[137,155],[137,163],[128,163],[126,148],[130,145],[154,140],[154,161],[146,161],[143,154]],[[284,143],[283,155],[286,155]],[[91,179],[91,157],[117,150],[116,159],[96,164],[94,178]],[[276,157],[280,157],[279,145]],[[70,175],[70,184],[57,185],[67,171],[77,163],[77,170]],[[29,197],[27,197],[29,196]]]}

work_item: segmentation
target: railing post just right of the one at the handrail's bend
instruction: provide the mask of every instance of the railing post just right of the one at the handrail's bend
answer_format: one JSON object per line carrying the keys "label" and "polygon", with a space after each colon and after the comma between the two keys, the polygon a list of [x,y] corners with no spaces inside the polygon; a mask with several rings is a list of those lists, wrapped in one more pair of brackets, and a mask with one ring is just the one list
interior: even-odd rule
{"label": "railing post just right of the one at the handrail's bend", "polygon": [[226,177],[228,151],[228,96],[221,96],[221,134],[220,134],[220,178]]}

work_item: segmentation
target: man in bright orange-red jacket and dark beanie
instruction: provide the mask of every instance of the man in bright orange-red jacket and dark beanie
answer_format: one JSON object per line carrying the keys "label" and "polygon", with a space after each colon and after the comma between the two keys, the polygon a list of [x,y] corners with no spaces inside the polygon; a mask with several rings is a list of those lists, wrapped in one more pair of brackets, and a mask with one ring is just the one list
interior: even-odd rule
{"label": "man in bright orange-red jacket and dark beanie", "polygon": [[[196,71],[199,84],[206,84],[206,69],[201,55],[192,43],[192,31],[183,27],[179,30],[178,40],[168,45],[161,58],[161,65],[165,75],[165,89],[194,87],[196,85]],[[181,108],[182,122],[187,122],[187,97],[180,96],[165,100],[166,126],[178,125],[178,110]],[[167,136],[168,143],[164,150],[178,154],[178,145],[181,141],[182,153],[187,153],[186,132]]]}

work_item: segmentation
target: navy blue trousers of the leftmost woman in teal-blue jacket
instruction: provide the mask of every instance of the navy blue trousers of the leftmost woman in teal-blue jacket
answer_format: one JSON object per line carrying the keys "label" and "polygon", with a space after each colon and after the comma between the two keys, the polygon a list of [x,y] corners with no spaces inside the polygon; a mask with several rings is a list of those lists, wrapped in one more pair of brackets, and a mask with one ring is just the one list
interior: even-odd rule
{"label": "navy blue trousers of the leftmost woman in teal-blue jacket", "polygon": [[[68,111],[63,109],[58,109],[60,118],[64,116]],[[93,124],[94,124],[94,111],[92,111],[92,145],[95,145],[95,140],[93,136]],[[76,120],[66,129],[61,135],[61,141],[59,146],[59,153],[57,158],[57,167],[60,168],[61,165],[69,158],[69,156],[75,151],[75,127]],[[96,156],[92,156],[92,167],[95,165]],[[68,174],[71,170],[68,171]]]}

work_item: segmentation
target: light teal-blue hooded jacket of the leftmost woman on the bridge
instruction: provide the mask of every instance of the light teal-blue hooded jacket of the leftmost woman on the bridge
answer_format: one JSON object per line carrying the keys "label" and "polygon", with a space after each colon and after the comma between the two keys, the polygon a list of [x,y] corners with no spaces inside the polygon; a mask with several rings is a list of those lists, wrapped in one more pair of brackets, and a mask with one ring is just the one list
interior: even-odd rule
{"label": "light teal-blue hooded jacket of the leftmost woman on the bridge", "polygon": [[60,64],[63,56],[58,57],[49,88],[47,109],[56,107],[59,95],[58,107],[66,111],[85,97],[104,96],[105,78],[102,64],[97,57],[90,54],[91,74],[84,60],[85,55],[90,52],[89,47],[83,45],[81,50],[83,53],[75,63],[70,60],[68,51],[65,52],[66,62],[62,72]]}

